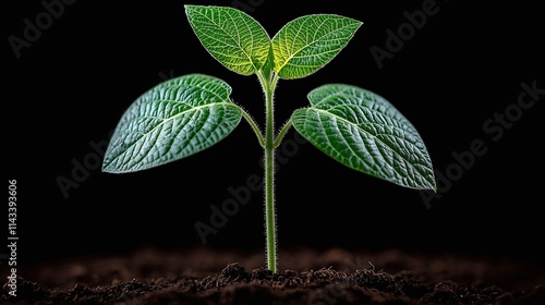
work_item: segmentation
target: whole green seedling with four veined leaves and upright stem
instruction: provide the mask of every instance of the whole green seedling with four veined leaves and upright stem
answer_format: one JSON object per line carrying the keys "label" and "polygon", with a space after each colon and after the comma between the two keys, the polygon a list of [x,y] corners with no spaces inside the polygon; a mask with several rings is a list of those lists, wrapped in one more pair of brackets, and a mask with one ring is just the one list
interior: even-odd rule
{"label": "whole green seedling with four veined leaves and upright stem", "polygon": [[340,163],[391,183],[436,190],[427,149],[414,126],[385,98],[348,84],[313,89],[307,108],[275,127],[279,80],[306,77],[331,61],[362,22],[313,14],[286,24],[272,38],[250,15],[232,8],[185,5],[204,48],[225,68],[257,75],[265,96],[265,130],[230,99],[231,87],[204,74],[166,81],[140,96],[124,112],[105,155],[102,171],[146,170],[199,152],[227,137],[242,121],[265,150],[267,267],[277,270],[275,149],[294,127]]}

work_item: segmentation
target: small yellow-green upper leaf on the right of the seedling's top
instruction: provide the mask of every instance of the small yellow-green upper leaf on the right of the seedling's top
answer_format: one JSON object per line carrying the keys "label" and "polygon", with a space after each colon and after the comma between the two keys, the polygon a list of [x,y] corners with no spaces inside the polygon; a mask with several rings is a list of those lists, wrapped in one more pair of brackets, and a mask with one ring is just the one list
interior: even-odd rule
{"label": "small yellow-green upper leaf on the right of the seedling's top", "polygon": [[293,20],[272,38],[275,71],[282,78],[301,78],[316,72],[347,46],[362,24],[331,14]]}

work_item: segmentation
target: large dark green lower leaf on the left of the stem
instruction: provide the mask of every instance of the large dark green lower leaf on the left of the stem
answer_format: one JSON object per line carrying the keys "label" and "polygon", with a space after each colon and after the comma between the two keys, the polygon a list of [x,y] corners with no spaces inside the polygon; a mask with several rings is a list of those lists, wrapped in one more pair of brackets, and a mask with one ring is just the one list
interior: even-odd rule
{"label": "large dark green lower leaf on the left of the stem", "polygon": [[204,150],[240,123],[242,110],[231,102],[231,87],[203,74],[157,85],[138,97],[112,135],[102,171],[134,172]]}

